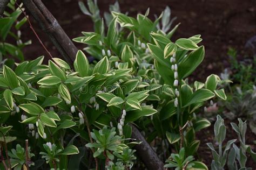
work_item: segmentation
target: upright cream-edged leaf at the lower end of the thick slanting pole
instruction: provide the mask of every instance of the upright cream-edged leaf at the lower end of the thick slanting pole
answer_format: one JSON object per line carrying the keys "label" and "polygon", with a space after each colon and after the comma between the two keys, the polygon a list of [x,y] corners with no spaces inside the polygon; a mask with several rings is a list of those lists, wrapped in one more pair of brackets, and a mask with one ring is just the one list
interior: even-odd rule
{"label": "upright cream-edged leaf at the lower end of the thick slanting pole", "polygon": [[89,73],[89,61],[87,60],[85,54],[78,50],[76,55],[76,60],[74,62],[74,68],[78,72],[79,76],[84,77]]}

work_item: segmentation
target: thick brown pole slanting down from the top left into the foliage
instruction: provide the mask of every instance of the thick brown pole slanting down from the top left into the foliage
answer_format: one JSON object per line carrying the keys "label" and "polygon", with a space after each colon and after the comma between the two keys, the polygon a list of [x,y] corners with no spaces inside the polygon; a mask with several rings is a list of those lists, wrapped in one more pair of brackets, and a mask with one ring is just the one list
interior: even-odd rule
{"label": "thick brown pole slanting down from the top left into the foliage", "polygon": [[22,2],[41,29],[48,34],[64,60],[72,67],[78,49],[58,24],[56,18],[52,16],[41,0],[22,0]]}

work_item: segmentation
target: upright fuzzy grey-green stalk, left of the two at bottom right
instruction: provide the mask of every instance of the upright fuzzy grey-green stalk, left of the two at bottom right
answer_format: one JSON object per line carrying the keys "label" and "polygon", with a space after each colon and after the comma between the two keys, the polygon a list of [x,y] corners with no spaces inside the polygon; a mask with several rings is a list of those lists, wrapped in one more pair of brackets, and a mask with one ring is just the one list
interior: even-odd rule
{"label": "upright fuzzy grey-green stalk, left of the two at bottom right", "polygon": [[223,147],[223,141],[226,137],[226,126],[224,125],[224,119],[221,118],[219,115],[217,116],[217,121],[214,124],[214,135],[215,135],[215,140],[218,143],[219,152],[215,151],[215,148],[212,143],[207,143],[213,155],[211,168],[215,170],[224,169],[224,166],[227,160],[228,151],[230,150],[231,145],[237,139],[229,140],[223,152],[222,147]]}

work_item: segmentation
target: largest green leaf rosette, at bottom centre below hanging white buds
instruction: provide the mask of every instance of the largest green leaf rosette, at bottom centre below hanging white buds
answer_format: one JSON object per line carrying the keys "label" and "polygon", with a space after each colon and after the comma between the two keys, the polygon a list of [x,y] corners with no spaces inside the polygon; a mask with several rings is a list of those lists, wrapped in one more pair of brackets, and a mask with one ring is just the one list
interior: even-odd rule
{"label": "largest green leaf rosette, at bottom centre below hanging white buds", "polygon": [[97,131],[95,129],[92,130],[91,136],[95,140],[95,143],[88,143],[86,147],[95,148],[95,153],[93,153],[93,157],[98,157],[100,154],[104,154],[104,156],[109,158],[110,160],[114,159],[114,155],[112,154],[114,151],[117,151],[117,146],[120,136],[116,134],[116,128],[107,129],[104,126],[103,129]]}

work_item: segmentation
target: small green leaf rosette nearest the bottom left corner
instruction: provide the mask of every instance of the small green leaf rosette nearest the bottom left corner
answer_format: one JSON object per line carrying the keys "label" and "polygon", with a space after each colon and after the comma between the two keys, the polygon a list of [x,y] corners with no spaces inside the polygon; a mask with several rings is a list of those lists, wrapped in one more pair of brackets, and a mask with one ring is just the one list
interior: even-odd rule
{"label": "small green leaf rosette nearest the bottom left corner", "polygon": [[[30,152],[30,147],[28,147],[28,157],[31,158],[35,156],[33,153]],[[21,145],[17,144],[16,149],[12,149],[11,151],[8,151],[8,155],[10,157],[11,161],[11,167],[15,170],[20,170],[23,168],[23,165],[28,165],[29,167],[31,165],[35,165],[34,162],[29,161],[26,162],[26,152]]]}

